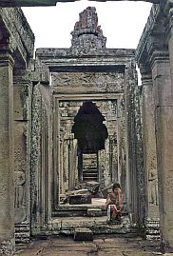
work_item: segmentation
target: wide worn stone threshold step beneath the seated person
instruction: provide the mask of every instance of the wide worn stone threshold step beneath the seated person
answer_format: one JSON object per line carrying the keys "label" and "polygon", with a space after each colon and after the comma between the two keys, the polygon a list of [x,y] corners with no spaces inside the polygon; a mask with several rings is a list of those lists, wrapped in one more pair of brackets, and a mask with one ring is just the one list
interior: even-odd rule
{"label": "wide worn stone threshold step beneath the seated person", "polygon": [[128,217],[122,218],[121,225],[106,223],[106,216],[102,217],[68,217],[54,218],[51,224],[42,228],[40,237],[51,235],[74,235],[76,228],[89,228],[94,235],[116,234],[117,237],[137,237],[142,231],[135,224],[129,222]]}

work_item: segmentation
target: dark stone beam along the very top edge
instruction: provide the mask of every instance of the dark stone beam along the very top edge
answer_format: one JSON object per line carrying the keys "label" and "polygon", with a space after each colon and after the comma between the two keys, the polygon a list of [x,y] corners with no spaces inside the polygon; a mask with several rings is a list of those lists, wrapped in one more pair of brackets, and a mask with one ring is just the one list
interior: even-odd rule
{"label": "dark stone beam along the very top edge", "polygon": [[[36,7],[36,6],[56,6],[57,2],[75,2],[76,0],[1,0],[0,7]],[[92,1],[92,0],[91,0]],[[96,0],[106,2],[106,0]],[[125,0],[107,0],[107,1],[125,1]],[[161,0],[128,0],[133,2],[149,2],[159,4]],[[166,1],[166,0],[165,0]],[[172,1],[172,0],[167,0]]]}

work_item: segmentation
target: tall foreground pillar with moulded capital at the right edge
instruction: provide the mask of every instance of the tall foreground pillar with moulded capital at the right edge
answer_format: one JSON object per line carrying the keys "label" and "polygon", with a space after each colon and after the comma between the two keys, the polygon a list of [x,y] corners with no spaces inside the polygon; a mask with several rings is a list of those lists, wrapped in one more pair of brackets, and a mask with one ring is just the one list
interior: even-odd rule
{"label": "tall foreground pillar with moulded capital at the right edge", "polygon": [[155,101],[161,246],[164,251],[173,249],[173,81],[163,38],[163,34],[151,35],[148,53]]}

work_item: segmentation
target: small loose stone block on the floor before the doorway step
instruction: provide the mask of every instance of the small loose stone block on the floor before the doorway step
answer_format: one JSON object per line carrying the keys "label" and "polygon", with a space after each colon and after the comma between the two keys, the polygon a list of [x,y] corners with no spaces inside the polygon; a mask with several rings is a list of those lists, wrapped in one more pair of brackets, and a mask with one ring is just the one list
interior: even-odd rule
{"label": "small loose stone block on the floor before the doorway step", "polygon": [[77,227],[74,231],[74,241],[93,241],[93,233],[89,228]]}

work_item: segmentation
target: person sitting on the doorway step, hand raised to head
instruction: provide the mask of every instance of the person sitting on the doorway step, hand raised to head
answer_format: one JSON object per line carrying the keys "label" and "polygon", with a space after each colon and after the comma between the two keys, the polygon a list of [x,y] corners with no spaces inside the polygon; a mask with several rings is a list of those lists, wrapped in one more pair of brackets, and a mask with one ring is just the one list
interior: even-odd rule
{"label": "person sitting on the doorway step, hand raised to head", "polygon": [[122,189],[119,183],[115,183],[106,197],[107,222],[121,223],[122,208]]}

